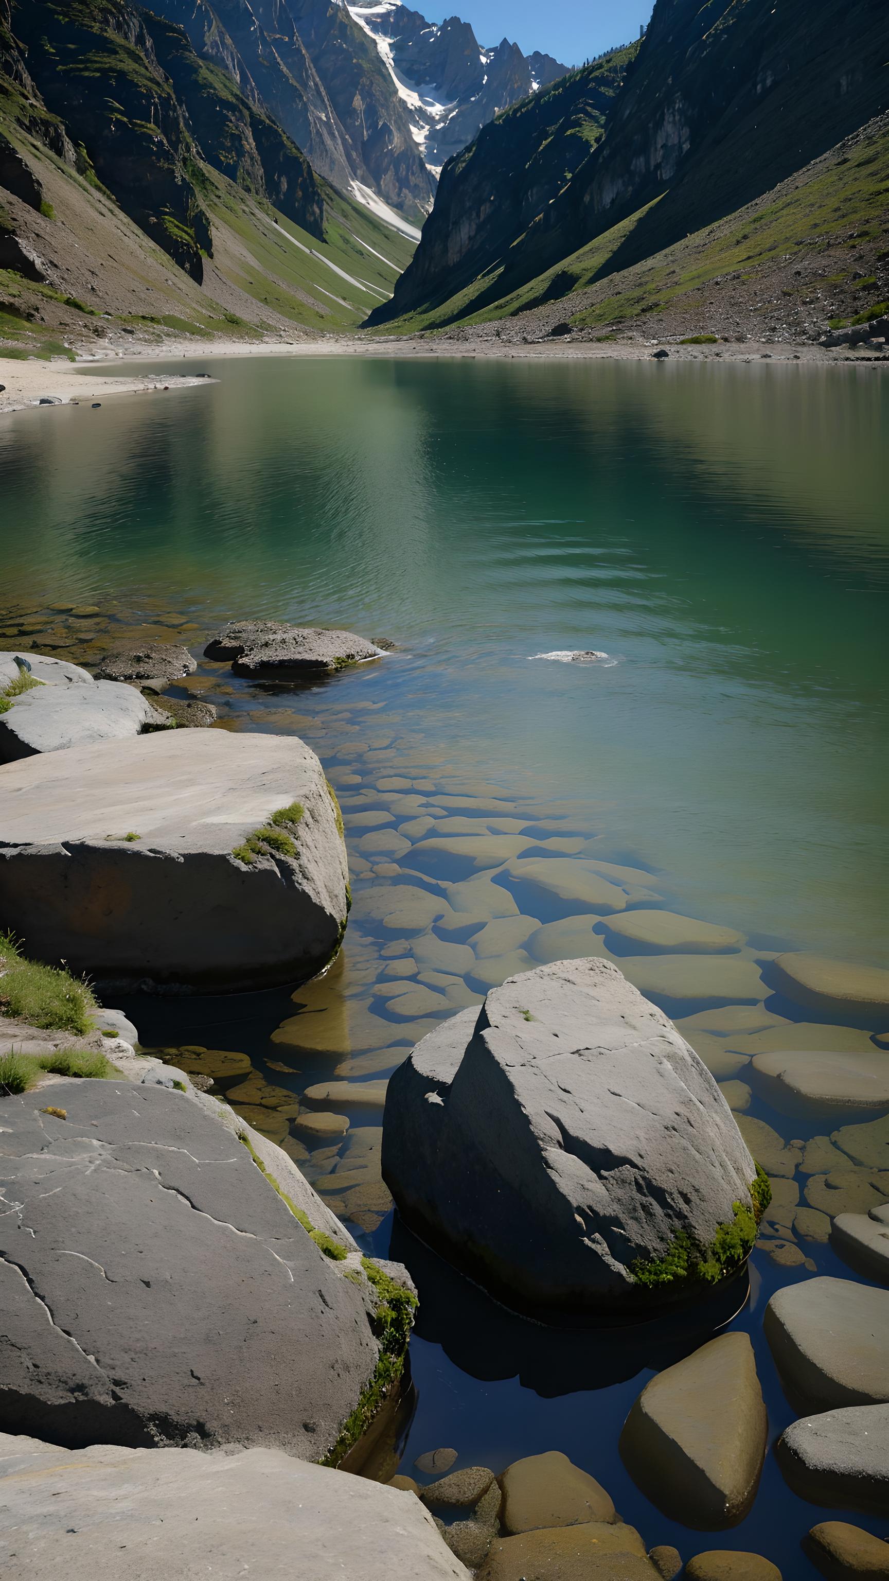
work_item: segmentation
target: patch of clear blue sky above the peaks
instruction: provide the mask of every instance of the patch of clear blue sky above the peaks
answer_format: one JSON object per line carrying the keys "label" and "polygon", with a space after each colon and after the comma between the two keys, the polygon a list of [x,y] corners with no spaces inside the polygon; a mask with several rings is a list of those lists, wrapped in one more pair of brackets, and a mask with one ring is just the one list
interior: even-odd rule
{"label": "patch of clear blue sky above the peaks", "polygon": [[514,40],[525,54],[541,49],[566,66],[600,55],[612,44],[639,36],[652,14],[652,0],[407,0],[430,22],[460,16],[471,22],[479,44]]}

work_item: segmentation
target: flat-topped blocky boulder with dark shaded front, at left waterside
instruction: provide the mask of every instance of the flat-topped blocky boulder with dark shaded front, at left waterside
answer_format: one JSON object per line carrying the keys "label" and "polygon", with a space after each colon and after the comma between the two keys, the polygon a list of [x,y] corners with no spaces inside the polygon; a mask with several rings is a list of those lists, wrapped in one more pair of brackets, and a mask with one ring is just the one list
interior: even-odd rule
{"label": "flat-topped blocky boulder with dark shaded front, at left waterside", "polygon": [[305,979],[346,922],[339,809],[293,735],[165,730],[47,753],[0,768],[0,893],[27,955],[106,983]]}

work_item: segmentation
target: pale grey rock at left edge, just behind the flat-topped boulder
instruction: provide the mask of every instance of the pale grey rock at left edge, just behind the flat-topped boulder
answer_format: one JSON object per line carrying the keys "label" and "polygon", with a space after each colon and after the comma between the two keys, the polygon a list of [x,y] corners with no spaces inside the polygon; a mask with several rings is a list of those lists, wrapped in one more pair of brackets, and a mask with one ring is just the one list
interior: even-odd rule
{"label": "pale grey rock at left edge, just behind the flat-topped boulder", "polygon": [[166,724],[168,716],[133,686],[44,683],[14,697],[13,707],[0,713],[0,764],[92,741],[128,741]]}

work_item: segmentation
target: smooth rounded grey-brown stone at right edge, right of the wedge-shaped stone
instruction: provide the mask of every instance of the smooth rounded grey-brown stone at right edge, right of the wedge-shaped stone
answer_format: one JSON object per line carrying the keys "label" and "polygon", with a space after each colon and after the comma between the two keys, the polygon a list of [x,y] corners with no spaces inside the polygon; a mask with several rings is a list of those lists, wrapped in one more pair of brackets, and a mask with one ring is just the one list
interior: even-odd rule
{"label": "smooth rounded grey-brown stone at right edge, right of the wedge-shaped stone", "polygon": [[785,1391],[804,1410],[889,1401],[889,1292],[829,1277],[785,1285],[764,1330]]}

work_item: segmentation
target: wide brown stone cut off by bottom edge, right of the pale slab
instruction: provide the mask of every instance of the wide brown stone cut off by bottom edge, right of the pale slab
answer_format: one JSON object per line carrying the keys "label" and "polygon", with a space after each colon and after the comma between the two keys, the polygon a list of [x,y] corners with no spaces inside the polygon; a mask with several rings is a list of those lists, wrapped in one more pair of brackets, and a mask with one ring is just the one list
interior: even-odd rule
{"label": "wide brown stone cut off by bottom edge, right of the pale slab", "polygon": [[645,1545],[633,1526],[541,1527],[495,1537],[478,1581],[658,1581]]}

